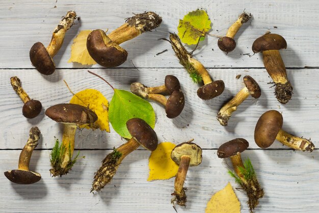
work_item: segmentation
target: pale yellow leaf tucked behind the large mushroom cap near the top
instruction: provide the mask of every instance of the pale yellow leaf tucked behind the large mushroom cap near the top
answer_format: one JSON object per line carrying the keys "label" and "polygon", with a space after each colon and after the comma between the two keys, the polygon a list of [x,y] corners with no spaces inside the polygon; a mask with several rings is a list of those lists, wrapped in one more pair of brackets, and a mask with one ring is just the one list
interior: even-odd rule
{"label": "pale yellow leaf tucked behind the large mushroom cap near the top", "polygon": [[68,63],[77,62],[83,65],[96,64],[87,50],[87,38],[91,32],[92,30],[83,30],[73,39],[71,57],[68,60]]}

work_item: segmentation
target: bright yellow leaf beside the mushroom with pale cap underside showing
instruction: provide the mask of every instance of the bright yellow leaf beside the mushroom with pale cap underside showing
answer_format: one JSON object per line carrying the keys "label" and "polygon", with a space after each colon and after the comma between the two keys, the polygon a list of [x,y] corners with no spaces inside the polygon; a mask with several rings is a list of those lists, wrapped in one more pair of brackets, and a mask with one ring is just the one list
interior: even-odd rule
{"label": "bright yellow leaf beside the mushroom with pale cap underside showing", "polygon": [[176,176],[178,165],[171,158],[171,152],[175,146],[170,142],[158,144],[149,157],[147,181],[166,180]]}

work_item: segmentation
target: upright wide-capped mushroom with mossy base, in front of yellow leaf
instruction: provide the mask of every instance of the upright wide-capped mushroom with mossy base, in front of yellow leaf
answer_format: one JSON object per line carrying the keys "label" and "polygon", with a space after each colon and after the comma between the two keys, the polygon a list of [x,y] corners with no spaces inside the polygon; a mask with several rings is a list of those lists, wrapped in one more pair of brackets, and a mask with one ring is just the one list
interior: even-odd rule
{"label": "upright wide-capped mushroom with mossy base, in front of yellow leaf", "polygon": [[[77,104],[57,104],[46,109],[45,115],[50,119],[64,124],[62,145],[58,156],[51,160],[52,176],[62,176],[69,172],[74,164],[74,137],[76,128],[80,125],[90,125],[97,120],[97,115],[91,109]],[[54,152],[54,150],[52,150]],[[52,163],[53,162],[53,163]]]}

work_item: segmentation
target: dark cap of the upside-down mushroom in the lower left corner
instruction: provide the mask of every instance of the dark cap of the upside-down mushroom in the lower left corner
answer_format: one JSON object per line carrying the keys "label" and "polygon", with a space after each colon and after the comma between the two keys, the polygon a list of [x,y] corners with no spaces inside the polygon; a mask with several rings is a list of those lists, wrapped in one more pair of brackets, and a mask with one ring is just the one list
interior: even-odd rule
{"label": "dark cap of the upside-down mushroom in the lower left corner", "polygon": [[18,184],[32,184],[41,179],[41,175],[39,173],[25,170],[10,170],[5,172],[5,176],[11,182]]}

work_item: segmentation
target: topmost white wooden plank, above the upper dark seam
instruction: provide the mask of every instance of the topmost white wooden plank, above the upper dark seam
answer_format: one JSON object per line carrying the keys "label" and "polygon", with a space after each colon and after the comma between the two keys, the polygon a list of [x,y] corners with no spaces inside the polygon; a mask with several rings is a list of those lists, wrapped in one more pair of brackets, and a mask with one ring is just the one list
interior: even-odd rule
{"label": "topmost white wooden plank, above the upper dark seam", "polygon": [[[169,32],[177,32],[178,20],[188,11],[197,8],[207,10],[213,22],[211,34],[225,35],[237,16],[246,9],[253,19],[236,35],[237,48],[227,56],[218,49],[217,38],[207,37],[195,52],[195,57],[206,67],[263,67],[261,55],[252,53],[253,41],[271,30],[281,34],[288,43],[288,49],[281,51],[287,67],[318,66],[314,56],[319,55],[319,3],[317,1],[280,2],[250,0],[237,1],[15,1],[0,5],[0,25],[2,35],[0,46],[0,68],[32,68],[29,51],[33,43],[41,41],[45,45],[61,16],[68,10],[75,10],[81,22],[67,33],[64,45],[55,57],[57,67],[86,67],[67,63],[70,57],[72,39],[81,30],[109,29],[112,31],[124,23],[132,13],[145,10],[155,11],[163,17],[162,25],[152,33],[145,33],[132,41],[122,44],[128,53],[127,61],[121,67],[181,67],[167,41]],[[275,28],[276,27],[276,28]],[[192,50],[192,46],[189,50]],[[164,50],[168,52],[156,55]],[[214,51],[212,51],[214,49]],[[100,67],[94,65],[93,67]]]}

